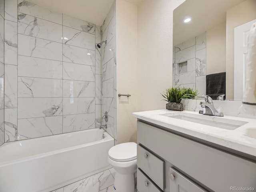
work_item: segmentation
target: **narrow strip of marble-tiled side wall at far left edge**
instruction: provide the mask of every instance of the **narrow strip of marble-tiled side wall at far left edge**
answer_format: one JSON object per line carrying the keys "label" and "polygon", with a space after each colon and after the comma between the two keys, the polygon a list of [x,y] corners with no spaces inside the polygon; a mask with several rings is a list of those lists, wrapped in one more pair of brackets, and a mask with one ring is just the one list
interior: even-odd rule
{"label": "narrow strip of marble-tiled side wall at far left edge", "polygon": [[4,143],[4,0],[0,0],[0,146]]}

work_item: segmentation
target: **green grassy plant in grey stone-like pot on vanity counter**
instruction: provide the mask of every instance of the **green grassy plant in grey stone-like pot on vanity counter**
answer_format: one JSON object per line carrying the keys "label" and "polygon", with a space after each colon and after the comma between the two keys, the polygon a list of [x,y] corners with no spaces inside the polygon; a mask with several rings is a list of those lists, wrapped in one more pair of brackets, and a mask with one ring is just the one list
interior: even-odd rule
{"label": "green grassy plant in grey stone-like pot on vanity counter", "polygon": [[168,103],[166,104],[166,109],[183,111],[183,104],[180,103],[182,99],[195,99],[198,94],[198,90],[192,88],[180,88],[172,87],[165,90],[162,96],[166,99]]}

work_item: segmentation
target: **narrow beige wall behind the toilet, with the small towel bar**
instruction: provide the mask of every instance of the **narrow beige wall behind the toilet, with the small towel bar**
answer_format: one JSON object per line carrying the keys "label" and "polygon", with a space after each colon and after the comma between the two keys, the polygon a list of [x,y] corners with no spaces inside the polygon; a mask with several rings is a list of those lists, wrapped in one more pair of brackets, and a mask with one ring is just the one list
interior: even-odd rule
{"label": "narrow beige wall behind the toilet, with the small towel bar", "polygon": [[117,26],[117,125],[118,143],[136,142],[136,118],[132,112],[137,110],[137,7],[124,0],[116,1]]}

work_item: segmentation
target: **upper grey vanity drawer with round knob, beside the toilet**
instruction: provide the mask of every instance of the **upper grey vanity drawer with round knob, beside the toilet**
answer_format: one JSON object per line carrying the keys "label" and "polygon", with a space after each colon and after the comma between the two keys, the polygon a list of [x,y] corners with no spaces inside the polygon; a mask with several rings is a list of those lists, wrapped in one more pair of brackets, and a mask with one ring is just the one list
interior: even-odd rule
{"label": "upper grey vanity drawer with round knob, beside the toilet", "polygon": [[137,145],[137,165],[155,184],[164,190],[164,161]]}

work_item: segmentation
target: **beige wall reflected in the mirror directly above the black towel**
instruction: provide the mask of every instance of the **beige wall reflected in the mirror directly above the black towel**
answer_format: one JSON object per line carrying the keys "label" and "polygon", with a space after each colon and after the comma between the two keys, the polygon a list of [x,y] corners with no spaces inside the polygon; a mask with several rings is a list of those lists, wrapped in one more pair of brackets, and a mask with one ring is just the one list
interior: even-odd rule
{"label": "beige wall reflected in the mirror directly above the black towel", "polygon": [[206,74],[226,72],[226,22],[206,31]]}

